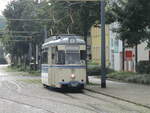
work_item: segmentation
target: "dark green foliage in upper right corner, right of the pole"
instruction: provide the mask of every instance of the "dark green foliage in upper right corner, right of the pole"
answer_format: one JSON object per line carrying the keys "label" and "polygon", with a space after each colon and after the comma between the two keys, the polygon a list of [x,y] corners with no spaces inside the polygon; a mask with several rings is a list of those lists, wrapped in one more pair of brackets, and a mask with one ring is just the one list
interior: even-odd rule
{"label": "dark green foliage in upper right corner, right of the pole", "polygon": [[117,32],[120,39],[125,40],[129,46],[135,46],[142,41],[150,39],[150,1],[126,0],[113,5],[114,16],[120,26]]}

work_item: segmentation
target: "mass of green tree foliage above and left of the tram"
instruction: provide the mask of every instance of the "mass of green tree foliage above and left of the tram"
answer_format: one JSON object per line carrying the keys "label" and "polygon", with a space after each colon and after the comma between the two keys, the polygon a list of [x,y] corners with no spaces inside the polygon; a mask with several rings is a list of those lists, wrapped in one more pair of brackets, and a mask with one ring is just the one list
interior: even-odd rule
{"label": "mass of green tree foliage above and left of the tram", "polygon": [[[48,5],[48,2],[51,5]],[[3,35],[3,44],[6,51],[11,54],[14,65],[20,65],[20,61],[22,64],[29,65],[29,43],[32,44],[32,55],[35,57],[36,45],[41,48],[44,41],[44,26],[47,27],[49,36],[57,34],[87,35],[93,24],[100,23],[99,3],[46,0],[41,3],[34,0],[11,1],[3,12],[7,20],[7,32]],[[110,14],[110,10],[107,10],[106,15]],[[106,17],[106,22],[110,23],[112,19],[109,19],[110,16]],[[13,31],[28,32],[15,33]],[[27,39],[30,36],[32,39]]]}

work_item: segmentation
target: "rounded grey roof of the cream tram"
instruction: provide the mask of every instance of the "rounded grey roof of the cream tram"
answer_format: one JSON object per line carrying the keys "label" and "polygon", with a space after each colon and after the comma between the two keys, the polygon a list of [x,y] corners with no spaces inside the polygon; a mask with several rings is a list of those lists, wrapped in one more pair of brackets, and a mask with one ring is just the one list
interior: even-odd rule
{"label": "rounded grey roof of the cream tram", "polygon": [[[75,42],[70,42],[70,40],[72,39]],[[84,45],[85,41],[81,38],[81,36],[77,36],[77,35],[57,35],[57,36],[51,36],[48,39],[46,39],[45,43],[42,46],[46,47],[46,46],[53,46],[53,45],[70,45],[70,44]]]}

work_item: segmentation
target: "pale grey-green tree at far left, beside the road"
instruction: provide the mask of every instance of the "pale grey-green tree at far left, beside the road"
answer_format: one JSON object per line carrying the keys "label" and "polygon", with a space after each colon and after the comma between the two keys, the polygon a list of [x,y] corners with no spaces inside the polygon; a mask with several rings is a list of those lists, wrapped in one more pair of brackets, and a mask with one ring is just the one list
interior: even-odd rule
{"label": "pale grey-green tree at far left, beside the road", "polygon": [[[42,40],[42,34],[37,35],[35,33],[30,32],[40,32],[40,23],[38,21],[26,20],[38,18],[37,6],[32,0],[12,1],[10,4],[8,4],[3,14],[8,21],[6,28],[6,31],[8,32],[6,33],[6,35],[4,35],[4,43],[11,46],[11,48],[6,47],[6,50],[9,51],[12,54],[12,56],[17,59],[13,60],[14,62],[18,61],[19,59],[25,59],[23,57],[27,56],[29,51],[28,42],[31,42],[33,48],[35,48],[35,44],[41,43],[44,40]],[[24,19],[24,21],[22,21],[21,19]],[[32,40],[27,40],[27,38],[31,36]],[[33,53],[33,55],[34,54],[35,53]],[[26,62],[26,60],[24,62]],[[15,64],[18,64],[18,62],[15,62]]]}

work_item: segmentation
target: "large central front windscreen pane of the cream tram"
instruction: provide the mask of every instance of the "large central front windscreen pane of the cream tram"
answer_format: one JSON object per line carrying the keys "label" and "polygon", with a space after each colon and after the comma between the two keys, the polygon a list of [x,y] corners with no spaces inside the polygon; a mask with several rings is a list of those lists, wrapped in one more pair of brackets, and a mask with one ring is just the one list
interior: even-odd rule
{"label": "large central front windscreen pane of the cream tram", "polygon": [[80,53],[78,52],[66,53],[66,64],[80,64]]}

